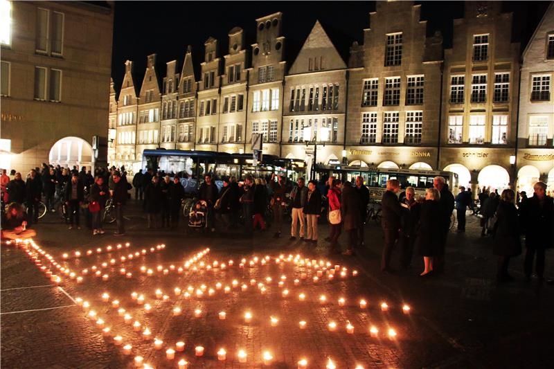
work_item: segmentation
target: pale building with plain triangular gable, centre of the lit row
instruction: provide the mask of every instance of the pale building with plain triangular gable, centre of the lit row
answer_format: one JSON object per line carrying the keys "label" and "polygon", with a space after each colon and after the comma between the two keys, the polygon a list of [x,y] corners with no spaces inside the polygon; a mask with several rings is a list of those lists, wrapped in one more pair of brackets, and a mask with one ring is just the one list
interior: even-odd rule
{"label": "pale building with plain triangular gable, centre of the lit row", "polygon": [[314,163],[342,155],[346,123],[347,66],[316,21],[285,76],[282,156]]}

